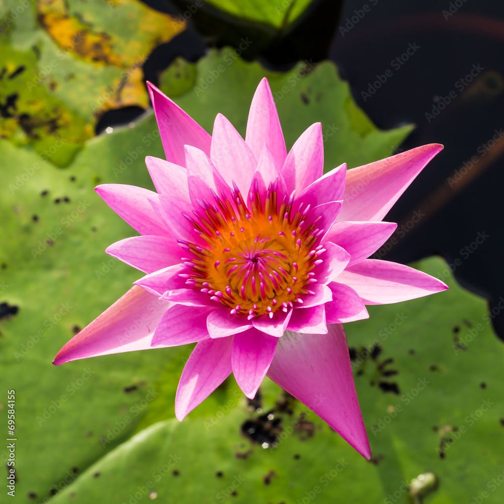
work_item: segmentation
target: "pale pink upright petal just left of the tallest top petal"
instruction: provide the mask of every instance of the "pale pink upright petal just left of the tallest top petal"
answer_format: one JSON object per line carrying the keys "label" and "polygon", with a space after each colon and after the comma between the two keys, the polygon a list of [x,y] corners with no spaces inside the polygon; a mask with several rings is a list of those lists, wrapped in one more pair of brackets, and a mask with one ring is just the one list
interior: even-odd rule
{"label": "pale pink upright petal just left of the tallest top petal", "polygon": [[256,171],[256,158],[234,126],[222,115],[217,114],[212,134],[210,159],[226,183],[232,187],[235,181],[243,198]]}

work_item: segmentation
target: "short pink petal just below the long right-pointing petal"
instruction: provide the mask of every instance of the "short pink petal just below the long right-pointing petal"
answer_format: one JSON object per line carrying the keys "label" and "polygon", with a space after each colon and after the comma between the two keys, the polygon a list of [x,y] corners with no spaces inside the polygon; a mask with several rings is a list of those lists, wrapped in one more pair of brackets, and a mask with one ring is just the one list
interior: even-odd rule
{"label": "short pink petal just below the long right-pointing petal", "polygon": [[369,318],[362,299],[351,287],[337,282],[331,282],[328,287],[333,293],[333,300],[324,305],[328,324],[343,324]]}

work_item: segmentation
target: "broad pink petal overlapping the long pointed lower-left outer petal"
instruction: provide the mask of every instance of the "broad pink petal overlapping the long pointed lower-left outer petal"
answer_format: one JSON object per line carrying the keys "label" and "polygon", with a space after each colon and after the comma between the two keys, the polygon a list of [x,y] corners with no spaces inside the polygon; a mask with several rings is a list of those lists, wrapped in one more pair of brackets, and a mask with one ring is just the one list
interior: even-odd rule
{"label": "broad pink petal overlapping the long pointed lower-left outer petal", "polygon": [[208,339],[207,317],[211,310],[175,304],[166,311],[154,331],[152,346],[187,345]]}

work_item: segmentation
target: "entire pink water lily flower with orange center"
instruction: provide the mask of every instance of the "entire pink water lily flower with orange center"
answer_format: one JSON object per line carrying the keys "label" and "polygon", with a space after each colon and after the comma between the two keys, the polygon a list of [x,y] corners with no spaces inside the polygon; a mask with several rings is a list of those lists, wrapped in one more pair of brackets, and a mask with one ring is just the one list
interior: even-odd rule
{"label": "entire pink water lily flower with orange center", "polygon": [[370,458],[342,324],[367,318],[366,304],[447,288],[366,259],[397,226],[384,216],[442,146],[324,175],[321,124],[287,153],[266,79],[245,140],[221,114],[210,136],[152,85],[150,94],[167,159],[146,159],[157,193],[96,188],[142,235],[107,253],[146,275],[54,364],[198,342],[178,385],[179,420],[231,372],[249,398],[268,375]]}

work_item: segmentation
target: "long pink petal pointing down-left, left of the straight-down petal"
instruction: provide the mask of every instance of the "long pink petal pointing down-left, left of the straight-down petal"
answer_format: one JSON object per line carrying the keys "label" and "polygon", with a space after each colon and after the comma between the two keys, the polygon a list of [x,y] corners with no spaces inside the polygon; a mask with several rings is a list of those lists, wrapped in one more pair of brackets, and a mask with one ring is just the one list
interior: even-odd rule
{"label": "long pink petal pointing down-left, left of the straight-down petal", "polygon": [[200,341],[188,358],[175,397],[175,416],[185,415],[203,402],[230,374],[233,337]]}

